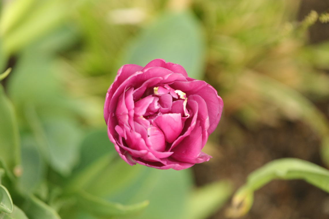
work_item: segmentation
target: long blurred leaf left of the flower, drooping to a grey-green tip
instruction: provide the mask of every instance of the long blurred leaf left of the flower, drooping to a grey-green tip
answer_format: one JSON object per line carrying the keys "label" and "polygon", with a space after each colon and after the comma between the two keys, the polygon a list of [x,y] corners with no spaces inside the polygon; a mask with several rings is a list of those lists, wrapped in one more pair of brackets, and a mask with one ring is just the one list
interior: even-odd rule
{"label": "long blurred leaf left of the flower, drooping to a grey-green tip", "polygon": [[11,97],[25,115],[44,159],[68,175],[78,159],[81,128],[61,95],[54,58],[38,47],[24,51],[8,83]]}

